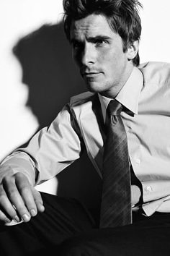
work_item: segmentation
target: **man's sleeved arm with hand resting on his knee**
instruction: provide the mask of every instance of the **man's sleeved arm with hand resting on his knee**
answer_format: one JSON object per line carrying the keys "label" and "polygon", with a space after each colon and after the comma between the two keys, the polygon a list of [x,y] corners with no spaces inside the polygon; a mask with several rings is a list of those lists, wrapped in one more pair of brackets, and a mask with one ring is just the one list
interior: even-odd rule
{"label": "man's sleeved arm with hand resting on his knee", "polygon": [[0,221],[30,221],[44,207],[35,184],[51,179],[79,158],[81,140],[69,106],[0,166]]}

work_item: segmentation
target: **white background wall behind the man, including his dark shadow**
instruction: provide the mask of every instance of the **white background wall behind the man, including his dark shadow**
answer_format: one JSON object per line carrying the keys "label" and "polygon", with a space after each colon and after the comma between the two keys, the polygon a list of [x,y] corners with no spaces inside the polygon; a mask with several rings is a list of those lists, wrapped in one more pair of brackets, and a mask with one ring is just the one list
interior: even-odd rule
{"label": "white background wall behind the man, including his dark shadow", "polygon": [[[141,3],[140,62],[169,62],[169,0]],[[0,160],[50,124],[71,95],[86,90],[71,60],[62,12],[62,0],[0,1]],[[85,203],[90,197],[92,208],[100,185],[84,155],[38,188]]]}

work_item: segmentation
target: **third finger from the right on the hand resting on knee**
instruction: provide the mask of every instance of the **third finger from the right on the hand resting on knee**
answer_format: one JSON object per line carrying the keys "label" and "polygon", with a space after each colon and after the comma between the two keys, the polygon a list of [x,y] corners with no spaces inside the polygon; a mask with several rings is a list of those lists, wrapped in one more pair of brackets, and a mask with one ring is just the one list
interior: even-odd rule
{"label": "third finger from the right on the hand resting on knee", "polygon": [[19,217],[22,218],[24,222],[30,221],[30,213],[24,205],[24,201],[19,194],[14,179],[11,179],[11,177],[5,177],[3,182],[6,195],[9,197],[9,201],[12,203],[12,205],[15,206]]}

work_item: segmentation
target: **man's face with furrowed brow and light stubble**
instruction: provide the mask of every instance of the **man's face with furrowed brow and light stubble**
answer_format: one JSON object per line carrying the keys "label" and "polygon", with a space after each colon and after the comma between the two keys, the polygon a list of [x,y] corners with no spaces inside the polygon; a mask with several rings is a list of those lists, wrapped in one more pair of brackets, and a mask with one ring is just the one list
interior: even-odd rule
{"label": "man's face with furrowed brow and light stubble", "polygon": [[90,14],[71,24],[73,58],[88,90],[115,97],[133,69],[122,38],[100,14]]}

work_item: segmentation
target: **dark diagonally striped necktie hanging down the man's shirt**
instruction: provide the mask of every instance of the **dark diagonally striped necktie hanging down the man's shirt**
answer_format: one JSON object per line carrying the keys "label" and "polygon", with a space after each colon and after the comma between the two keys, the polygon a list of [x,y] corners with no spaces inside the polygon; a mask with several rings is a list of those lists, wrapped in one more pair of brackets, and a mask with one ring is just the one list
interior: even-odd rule
{"label": "dark diagonally striped necktie hanging down the man's shirt", "polygon": [[107,137],[104,142],[100,228],[132,223],[128,140],[115,100],[107,106]]}

